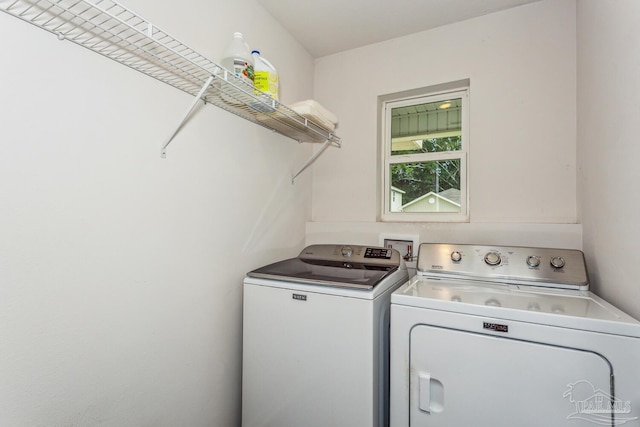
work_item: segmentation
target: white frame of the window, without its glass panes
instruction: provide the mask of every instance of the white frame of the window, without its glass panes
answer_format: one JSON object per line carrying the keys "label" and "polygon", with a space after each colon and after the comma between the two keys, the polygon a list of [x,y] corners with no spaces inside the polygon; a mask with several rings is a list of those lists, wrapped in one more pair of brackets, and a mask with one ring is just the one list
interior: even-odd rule
{"label": "white frame of the window, without its glass panes", "polygon": [[[415,93],[415,92],[414,92]],[[468,222],[469,221],[469,87],[468,85],[451,90],[429,92],[408,97],[385,97],[381,102],[381,164],[379,200],[380,220],[388,222]],[[451,98],[462,100],[461,114],[461,149],[435,153],[419,153],[407,155],[391,155],[391,110],[396,107],[418,105],[430,102],[445,101]],[[391,211],[391,165],[394,163],[431,162],[438,160],[460,160],[460,212],[427,213],[427,212],[392,212]]]}

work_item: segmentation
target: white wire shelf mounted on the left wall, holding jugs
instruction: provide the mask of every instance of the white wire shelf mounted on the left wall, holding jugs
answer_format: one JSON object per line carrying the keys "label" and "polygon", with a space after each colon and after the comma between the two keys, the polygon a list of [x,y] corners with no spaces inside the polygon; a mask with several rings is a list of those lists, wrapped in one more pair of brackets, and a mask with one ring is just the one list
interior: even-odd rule
{"label": "white wire shelf mounted on the left wall, holding jugs", "polygon": [[0,10],[180,89],[196,101],[299,142],[341,146],[332,131],[267,95],[256,95],[253,86],[116,1],[0,0]]}

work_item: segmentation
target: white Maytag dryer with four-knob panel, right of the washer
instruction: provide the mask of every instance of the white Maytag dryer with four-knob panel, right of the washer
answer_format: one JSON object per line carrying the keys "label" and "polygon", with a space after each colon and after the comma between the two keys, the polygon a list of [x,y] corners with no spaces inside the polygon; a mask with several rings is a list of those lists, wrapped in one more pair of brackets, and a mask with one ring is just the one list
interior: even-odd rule
{"label": "white Maytag dryer with four-knob panel, right of the washer", "polygon": [[422,244],[391,297],[391,427],[640,426],[640,323],[580,251]]}

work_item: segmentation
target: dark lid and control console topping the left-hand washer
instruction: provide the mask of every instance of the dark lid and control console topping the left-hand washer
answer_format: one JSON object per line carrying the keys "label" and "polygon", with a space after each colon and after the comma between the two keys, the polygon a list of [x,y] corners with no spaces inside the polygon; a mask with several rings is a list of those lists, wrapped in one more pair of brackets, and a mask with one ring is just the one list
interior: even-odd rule
{"label": "dark lid and control console topping the left-hand washer", "polygon": [[311,245],[291,258],[247,273],[288,282],[373,289],[403,265],[395,249],[360,245]]}

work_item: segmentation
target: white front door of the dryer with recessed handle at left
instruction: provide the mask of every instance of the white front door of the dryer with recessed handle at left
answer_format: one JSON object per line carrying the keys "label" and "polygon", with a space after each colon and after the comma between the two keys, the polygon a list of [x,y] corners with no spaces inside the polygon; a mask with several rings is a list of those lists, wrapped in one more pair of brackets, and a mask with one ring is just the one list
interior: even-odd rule
{"label": "white front door of the dryer with recessed handle at left", "polygon": [[412,427],[613,425],[611,367],[593,352],[418,325],[410,363]]}

